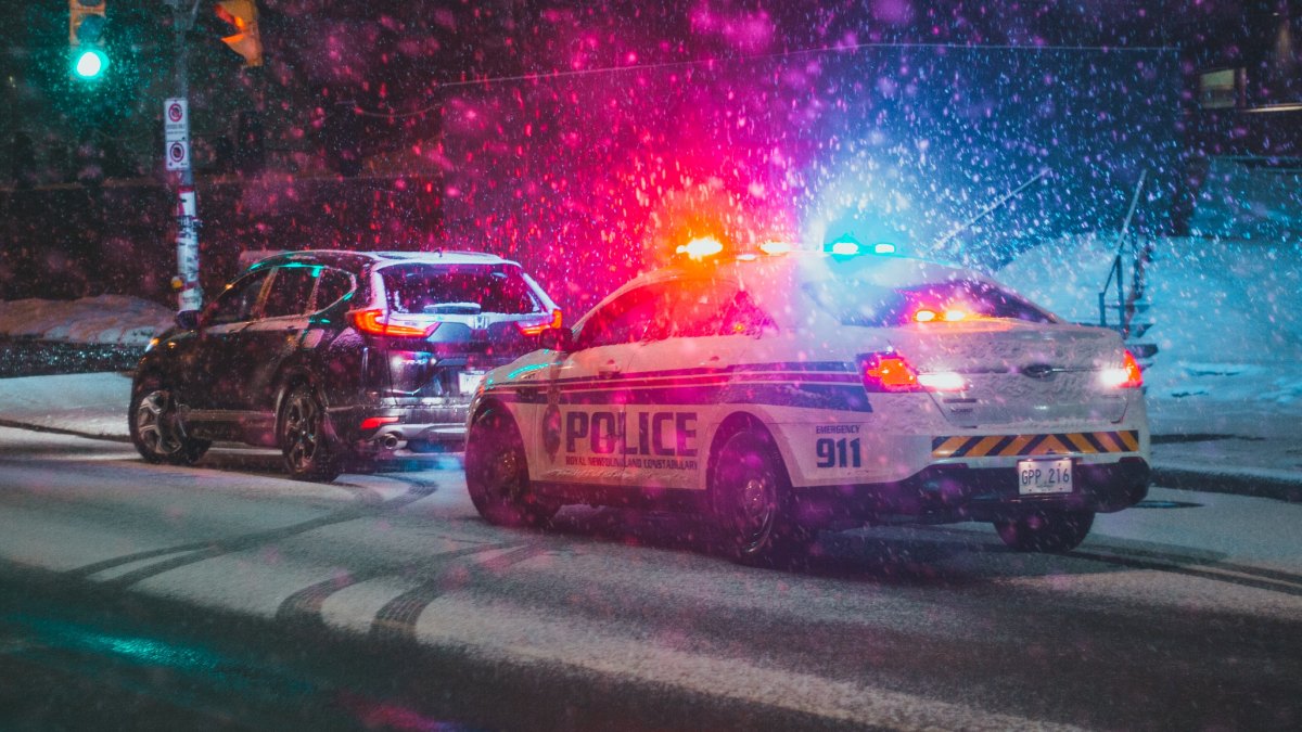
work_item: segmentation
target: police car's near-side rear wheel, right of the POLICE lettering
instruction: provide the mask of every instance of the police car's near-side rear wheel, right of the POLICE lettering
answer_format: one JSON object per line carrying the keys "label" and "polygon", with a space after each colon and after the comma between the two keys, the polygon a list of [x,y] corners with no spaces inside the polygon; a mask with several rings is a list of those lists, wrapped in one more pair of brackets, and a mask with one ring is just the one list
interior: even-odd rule
{"label": "police car's near-side rear wheel, right of the POLICE lettering", "polygon": [[[715,456],[711,479],[715,526],[724,552],[742,564],[772,567],[807,550],[814,533],[792,520],[790,479],[783,457],[766,432],[742,430]],[[743,526],[745,491],[767,516],[758,526]],[[758,491],[758,492],[756,492]],[[741,518],[741,521],[738,521]]]}

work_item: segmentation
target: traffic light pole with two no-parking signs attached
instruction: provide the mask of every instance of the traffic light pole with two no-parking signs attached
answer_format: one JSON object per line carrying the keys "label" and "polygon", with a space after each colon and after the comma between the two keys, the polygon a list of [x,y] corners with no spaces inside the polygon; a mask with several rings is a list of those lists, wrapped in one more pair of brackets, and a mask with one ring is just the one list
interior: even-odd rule
{"label": "traffic light pole with two no-parking signs attached", "polygon": [[167,133],[167,168],[176,175],[176,277],[177,323],[193,327],[203,307],[199,289],[199,212],[194,191],[194,172],[190,169],[190,117],[189,117],[189,46],[185,35],[194,26],[199,0],[168,0],[172,7],[172,30],[176,33],[174,85],[176,98],[164,106]]}

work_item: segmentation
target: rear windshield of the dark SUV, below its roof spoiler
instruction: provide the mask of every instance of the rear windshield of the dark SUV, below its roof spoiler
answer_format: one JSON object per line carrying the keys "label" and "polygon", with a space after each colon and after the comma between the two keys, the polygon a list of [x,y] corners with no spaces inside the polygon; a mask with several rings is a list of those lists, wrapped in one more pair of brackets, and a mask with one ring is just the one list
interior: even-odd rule
{"label": "rear windshield of the dark SUV, below its roof spoiler", "polygon": [[380,271],[393,313],[542,313],[519,267],[396,264]]}

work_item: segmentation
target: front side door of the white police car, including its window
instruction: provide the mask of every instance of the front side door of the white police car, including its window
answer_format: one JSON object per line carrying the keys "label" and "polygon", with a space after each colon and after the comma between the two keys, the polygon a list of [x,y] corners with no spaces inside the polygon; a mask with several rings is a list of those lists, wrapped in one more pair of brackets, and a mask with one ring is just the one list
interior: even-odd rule
{"label": "front side door of the white police car, including its window", "polygon": [[534,461],[547,483],[617,487],[624,477],[625,373],[663,307],[664,287],[631,289],[579,324],[574,346],[548,369]]}

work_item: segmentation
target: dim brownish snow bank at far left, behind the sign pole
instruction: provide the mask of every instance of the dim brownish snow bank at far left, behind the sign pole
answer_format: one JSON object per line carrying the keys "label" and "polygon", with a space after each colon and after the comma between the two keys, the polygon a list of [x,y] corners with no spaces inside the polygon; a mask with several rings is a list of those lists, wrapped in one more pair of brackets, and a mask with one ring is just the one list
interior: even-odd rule
{"label": "dim brownish snow bank at far left, behind the sign pole", "polygon": [[124,294],[0,301],[0,336],[145,345],[171,324],[167,307]]}

